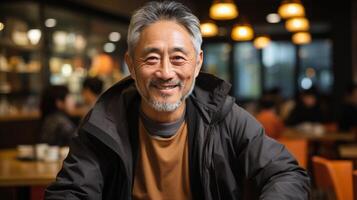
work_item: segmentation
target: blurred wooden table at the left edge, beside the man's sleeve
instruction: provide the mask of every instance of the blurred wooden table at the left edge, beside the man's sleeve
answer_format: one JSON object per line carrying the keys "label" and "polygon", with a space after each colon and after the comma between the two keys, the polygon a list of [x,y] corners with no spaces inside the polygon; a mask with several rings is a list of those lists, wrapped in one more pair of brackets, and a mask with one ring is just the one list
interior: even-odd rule
{"label": "blurred wooden table at the left edge, beside the man's sleeve", "polygon": [[0,150],[0,186],[48,185],[61,167],[62,160],[24,161],[17,159],[15,149]]}

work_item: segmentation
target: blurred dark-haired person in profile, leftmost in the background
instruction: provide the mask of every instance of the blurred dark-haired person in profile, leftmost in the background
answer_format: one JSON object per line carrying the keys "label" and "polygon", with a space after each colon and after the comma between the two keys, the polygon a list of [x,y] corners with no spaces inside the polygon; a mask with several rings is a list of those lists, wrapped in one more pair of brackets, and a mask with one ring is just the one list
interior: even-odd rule
{"label": "blurred dark-haired person in profile, leftmost in the background", "polygon": [[41,96],[41,136],[40,142],[49,145],[67,146],[75,136],[75,124],[68,113],[74,108],[66,86],[56,85],[46,88]]}

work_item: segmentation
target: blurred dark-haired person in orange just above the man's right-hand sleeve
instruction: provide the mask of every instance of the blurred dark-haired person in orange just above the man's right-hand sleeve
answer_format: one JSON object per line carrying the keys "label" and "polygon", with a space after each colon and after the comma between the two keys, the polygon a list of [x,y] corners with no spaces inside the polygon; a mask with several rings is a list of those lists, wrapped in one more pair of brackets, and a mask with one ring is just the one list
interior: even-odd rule
{"label": "blurred dark-haired person in orange just above the man's right-hand sleeve", "polygon": [[274,99],[265,96],[259,103],[259,112],[256,115],[257,120],[263,125],[268,136],[278,139],[284,130],[284,123],[277,114]]}

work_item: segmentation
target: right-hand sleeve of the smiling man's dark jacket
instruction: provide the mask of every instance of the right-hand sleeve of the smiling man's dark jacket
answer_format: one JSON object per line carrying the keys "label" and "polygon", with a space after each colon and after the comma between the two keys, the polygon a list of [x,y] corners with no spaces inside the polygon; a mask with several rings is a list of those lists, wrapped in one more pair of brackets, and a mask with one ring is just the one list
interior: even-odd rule
{"label": "right-hand sleeve of the smiling man's dark jacket", "polygon": [[229,115],[238,162],[259,199],[308,199],[309,176],[287,149],[267,137],[262,126],[237,105]]}

